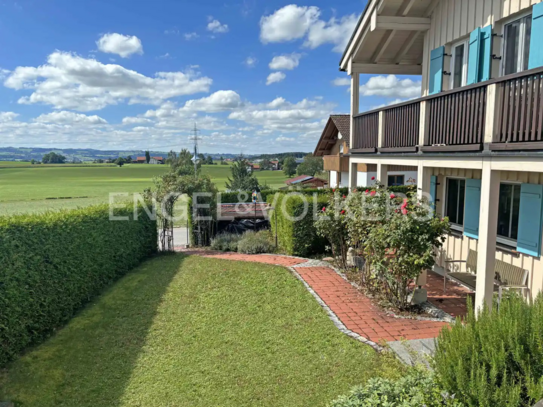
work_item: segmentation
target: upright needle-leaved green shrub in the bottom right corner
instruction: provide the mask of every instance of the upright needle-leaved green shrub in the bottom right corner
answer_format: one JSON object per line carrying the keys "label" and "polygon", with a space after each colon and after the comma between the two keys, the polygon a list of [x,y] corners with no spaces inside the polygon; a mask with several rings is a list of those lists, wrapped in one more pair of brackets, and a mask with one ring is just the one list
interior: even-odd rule
{"label": "upright needle-leaved green shrub in the bottom right corner", "polygon": [[467,406],[532,406],[543,398],[543,297],[507,296],[477,319],[470,309],[439,335],[434,369]]}

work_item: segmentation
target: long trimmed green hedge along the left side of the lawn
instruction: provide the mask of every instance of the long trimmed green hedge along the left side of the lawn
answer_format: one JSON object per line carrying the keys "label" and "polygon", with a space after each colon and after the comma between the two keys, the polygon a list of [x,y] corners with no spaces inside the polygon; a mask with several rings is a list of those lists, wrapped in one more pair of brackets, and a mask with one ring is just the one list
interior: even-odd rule
{"label": "long trimmed green hedge along the left side of the lawn", "polygon": [[0,217],[0,366],[39,343],[157,251],[143,208],[108,205]]}

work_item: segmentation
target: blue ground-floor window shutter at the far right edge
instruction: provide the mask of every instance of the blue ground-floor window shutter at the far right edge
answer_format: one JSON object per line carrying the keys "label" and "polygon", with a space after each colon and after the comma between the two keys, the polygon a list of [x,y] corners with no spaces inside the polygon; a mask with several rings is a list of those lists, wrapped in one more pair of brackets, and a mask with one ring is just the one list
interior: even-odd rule
{"label": "blue ground-floor window shutter at the far right edge", "polygon": [[541,256],[543,226],[543,185],[522,184],[517,250],[530,256]]}

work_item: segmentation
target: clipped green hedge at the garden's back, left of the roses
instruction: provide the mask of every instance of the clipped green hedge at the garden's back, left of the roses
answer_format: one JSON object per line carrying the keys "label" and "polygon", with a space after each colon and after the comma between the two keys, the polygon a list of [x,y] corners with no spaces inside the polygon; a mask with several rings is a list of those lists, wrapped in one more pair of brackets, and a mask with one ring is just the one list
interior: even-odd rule
{"label": "clipped green hedge at the garden's back, left of the roses", "polygon": [[302,257],[324,253],[327,242],[323,237],[317,235],[313,217],[316,211],[320,211],[328,205],[328,194],[318,195],[316,204],[313,197],[307,197],[308,211],[306,216],[300,220],[292,220],[287,217],[288,215],[291,218],[298,218],[304,212],[304,199],[297,191],[278,194],[277,200],[275,202],[274,200],[274,195],[268,196],[268,203],[275,205],[276,208],[272,211],[270,224],[272,235],[275,236],[275,217],[277,216],[277,238],[281,251],[291,256]]}

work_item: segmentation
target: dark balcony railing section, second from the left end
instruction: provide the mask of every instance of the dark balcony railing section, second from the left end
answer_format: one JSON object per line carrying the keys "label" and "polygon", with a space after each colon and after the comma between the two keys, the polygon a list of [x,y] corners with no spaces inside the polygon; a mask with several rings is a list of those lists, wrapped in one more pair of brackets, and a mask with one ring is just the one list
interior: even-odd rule
{"label": "dark balcony railing section, second from the left end", "polygon": [[384,111],[383,145],[379,151],[416,152],[419,144],[420,102],[394,106]]}

